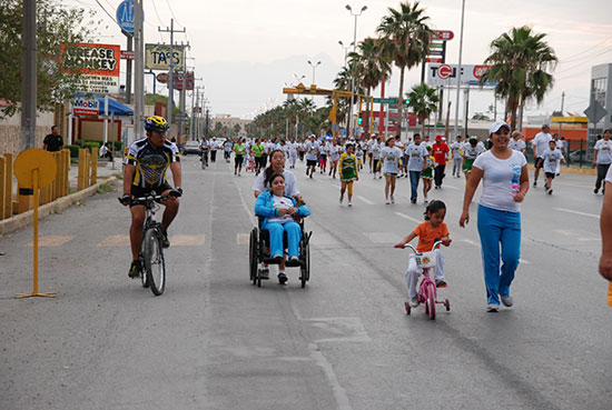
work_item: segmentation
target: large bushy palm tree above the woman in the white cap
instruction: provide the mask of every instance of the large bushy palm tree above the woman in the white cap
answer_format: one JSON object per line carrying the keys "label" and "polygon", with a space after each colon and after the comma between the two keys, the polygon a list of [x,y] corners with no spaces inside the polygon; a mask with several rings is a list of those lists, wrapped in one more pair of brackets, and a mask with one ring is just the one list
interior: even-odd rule
{"label": "large bushy palm tree above the woman in the white cap", "polygon": [[481,78],[481,83],[497,82],[495,94],[507,99],[506,111],[511,112],[511,128],[516,128],[516,110],[527,100],[537,103],[552,89],[554,79],[549,70],[556,67],[557,58],[544,38],[530,27],[513,28],[491,42],[491,56],[485,63],[491,69]]}

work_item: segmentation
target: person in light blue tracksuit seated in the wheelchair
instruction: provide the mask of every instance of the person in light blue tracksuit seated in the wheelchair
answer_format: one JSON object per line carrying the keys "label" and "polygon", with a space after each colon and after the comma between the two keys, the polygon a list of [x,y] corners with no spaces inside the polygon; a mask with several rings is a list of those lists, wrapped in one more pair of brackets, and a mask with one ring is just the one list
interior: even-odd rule
{"label": "person in light blue tracksuit seated in the wheelchair", "polygon": [[[273,173],[266,182],[269,190],[257,197],[255,214],[264,218],[260,228],[269,232],[270,258],[284,262],[283,237],[286,232],[289,260],[297,261],[302,228],[296,219],[309,216],[310,210],[304,204],[297,206],[295,198],[285,196],[285,177],[282,173]],[[279,264],[278,281],[280,284],[287,281],[284,264]]]}

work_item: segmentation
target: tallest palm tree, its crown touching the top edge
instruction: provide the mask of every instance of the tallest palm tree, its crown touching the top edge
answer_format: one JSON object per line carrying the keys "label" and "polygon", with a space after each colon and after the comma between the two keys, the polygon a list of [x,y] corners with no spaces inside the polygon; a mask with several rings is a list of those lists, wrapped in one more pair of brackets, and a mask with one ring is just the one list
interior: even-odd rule
{"label": "tallest palm tree, its crown touching the top edge", "polygon": [[[418,1],[399,4],[399,10],[389,8],[389,14],[383,18],[376,29],[382,36],[385,53],[399,68],[399,97],[404,94],[404,72],[418,66],[427,57],[431,36],[433,33]],[[402,132],[403,103],[398,101],[399,132]]]}

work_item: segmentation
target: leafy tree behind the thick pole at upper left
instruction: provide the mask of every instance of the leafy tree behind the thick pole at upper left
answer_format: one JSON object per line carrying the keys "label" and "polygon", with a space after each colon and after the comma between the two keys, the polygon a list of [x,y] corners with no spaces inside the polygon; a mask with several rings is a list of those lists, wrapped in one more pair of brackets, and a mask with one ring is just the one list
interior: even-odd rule
{"label": "leafy tree behind the thick pole at upper left", "polygon": [[[95,12],[66,8],[55,0],[37,1],[37,87],[40,110],[52,110],[73,97],[79,73],[65,73],[59,63],[63,43],[93,40],[100,21]],[[21,0],[0,0],[0,98],[10,106],[0,117],[12,116],[21,102],[21,33],[23,8]]]}

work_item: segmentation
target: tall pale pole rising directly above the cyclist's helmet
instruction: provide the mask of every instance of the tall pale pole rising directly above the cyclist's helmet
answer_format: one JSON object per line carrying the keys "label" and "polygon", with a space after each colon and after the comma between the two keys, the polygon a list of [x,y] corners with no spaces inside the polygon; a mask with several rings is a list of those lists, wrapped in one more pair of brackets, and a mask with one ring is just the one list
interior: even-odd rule
{"label": "tall pale pole rising directly above the cyclist's helmet", "polygon": [[145,36],[142,28],[142,0],[134,1],[134,138],[144,134],[145,114]]}

